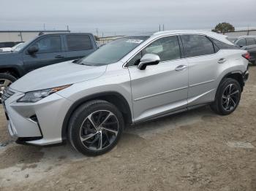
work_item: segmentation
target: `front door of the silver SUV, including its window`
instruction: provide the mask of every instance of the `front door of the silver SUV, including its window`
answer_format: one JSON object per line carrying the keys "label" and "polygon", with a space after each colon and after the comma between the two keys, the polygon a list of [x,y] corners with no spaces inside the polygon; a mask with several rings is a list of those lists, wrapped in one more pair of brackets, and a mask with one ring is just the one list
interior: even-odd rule
{"label": "front door of the silver SUV, including its window", "polygon": [[[160,62],[137,68],[146,53],[159,55]],[[128,63],[131,77],[135,122],[157,117],[187,107],[188,69],[181,58],[177,36],[167,36],[151,42]]]}

